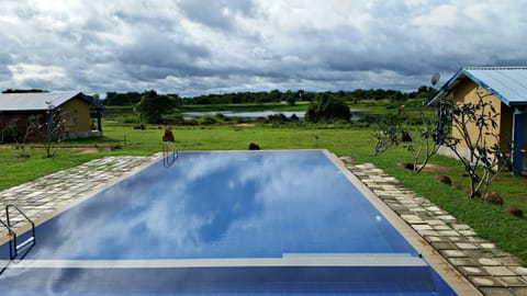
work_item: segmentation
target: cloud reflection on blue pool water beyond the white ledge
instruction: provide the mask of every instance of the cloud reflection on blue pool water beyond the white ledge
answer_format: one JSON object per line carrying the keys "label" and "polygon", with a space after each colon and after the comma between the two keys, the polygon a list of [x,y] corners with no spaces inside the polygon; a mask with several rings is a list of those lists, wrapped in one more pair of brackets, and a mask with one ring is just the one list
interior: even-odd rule
{"label": "cloud reflection on blue pool water beyond the white ledge", "polygon": [[411,252],[378,215],[321,151],[186,152],[49,220],[31,257]]}

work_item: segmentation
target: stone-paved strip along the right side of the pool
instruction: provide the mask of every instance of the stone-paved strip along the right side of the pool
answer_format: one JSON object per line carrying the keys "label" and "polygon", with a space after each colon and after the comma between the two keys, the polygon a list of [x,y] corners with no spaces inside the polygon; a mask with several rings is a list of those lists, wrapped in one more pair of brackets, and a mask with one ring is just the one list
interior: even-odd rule
{"label": "stone-paved strip along the right side of the pool", "polygon": [[483,295],[527,295],[527,267],[523,267],[517,258],[478,237],[470,226],[404,189],[395,178],[373,164],[351,164],[351,158],[340,159]]}

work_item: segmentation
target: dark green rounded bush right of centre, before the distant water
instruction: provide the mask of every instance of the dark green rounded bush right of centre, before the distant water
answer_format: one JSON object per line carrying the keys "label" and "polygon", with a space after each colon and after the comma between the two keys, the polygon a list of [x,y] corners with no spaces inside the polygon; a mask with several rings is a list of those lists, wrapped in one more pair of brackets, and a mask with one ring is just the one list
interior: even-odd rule
{"label": "dark green rounded bush right of centre, before the distant water", "polygon": [[315,101],[311,102],[305,119],[312,123],[325,123],[334,121],[349,122],[351,111],[341,100],[334,99],[325,93],[316,94]]}

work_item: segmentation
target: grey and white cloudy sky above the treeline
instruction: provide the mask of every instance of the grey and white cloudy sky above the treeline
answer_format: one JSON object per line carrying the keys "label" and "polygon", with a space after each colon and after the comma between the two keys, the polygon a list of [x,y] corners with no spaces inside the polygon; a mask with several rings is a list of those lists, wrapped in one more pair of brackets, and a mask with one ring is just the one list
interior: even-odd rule
{"label": "grey and white cloudy sky above the treeline", "polygon": [[527,0],[0,0],[0,89],[413,91],[527,66]]}

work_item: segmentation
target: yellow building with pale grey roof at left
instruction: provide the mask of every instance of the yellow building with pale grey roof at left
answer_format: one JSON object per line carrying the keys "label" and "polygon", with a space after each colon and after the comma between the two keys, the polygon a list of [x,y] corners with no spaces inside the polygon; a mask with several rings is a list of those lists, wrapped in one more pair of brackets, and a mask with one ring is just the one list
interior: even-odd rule
{"label": "yellow building with pale grey roof at left", "polygon": [[[58,113],[68,118],[65,138],[102,136],[102,104],[82,92],[23,92],[0,94],[0,126],[16,124],[14,132],[26,133],[27,119],[38,115],[53,129],[52,117]],[[3,135],[2,135],[3,136]],[[35,137],[35,135],[32,135]]]}

